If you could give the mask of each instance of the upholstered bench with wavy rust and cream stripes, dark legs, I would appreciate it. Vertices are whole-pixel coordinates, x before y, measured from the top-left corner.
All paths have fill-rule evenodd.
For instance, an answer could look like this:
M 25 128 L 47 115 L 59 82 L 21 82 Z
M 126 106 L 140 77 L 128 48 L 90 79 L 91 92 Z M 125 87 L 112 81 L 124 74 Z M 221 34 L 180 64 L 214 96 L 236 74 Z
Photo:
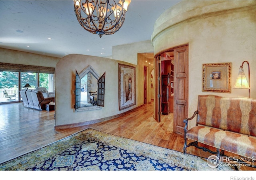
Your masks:
M 187 130 L 188 121 L 197 115 L 196 126 Z M 198 96 L 198 110 L 184 119 L 184 147 L 195 146 L 218 157 L 232 152 L 244 157 L 256 157 L 256 100 L 236 97 Z M 187 145 L 187 138 L 194 140 Z M 198 142 L 216 148 L 216 152 L 198 146 Z M 222 152 L 220 152 L 220 150 Z

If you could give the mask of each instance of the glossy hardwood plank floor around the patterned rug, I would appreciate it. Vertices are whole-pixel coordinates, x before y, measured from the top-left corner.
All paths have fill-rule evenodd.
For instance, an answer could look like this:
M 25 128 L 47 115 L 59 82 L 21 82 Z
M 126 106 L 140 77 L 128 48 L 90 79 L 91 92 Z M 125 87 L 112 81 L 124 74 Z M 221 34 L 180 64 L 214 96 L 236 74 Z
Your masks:
M 183 152 L 183 136 L 173 132 L 173 114 L 162 115 L 162 122 L 156 122 L 153 118 L 153 103 L 145 104 L 121 118 L 97 124 L 64 130 L 55 130 L 54 124 L 54 111 L 26 108 L 22 103 L 1 104 L 0 163 L 86 128 Z M 211 155 L 194 146 L 187 148 L 187 152 L 205 158 Z M 232 156 L 231 153 L 226 155 Z M 256 170 L 250 167 L 241 169 Z

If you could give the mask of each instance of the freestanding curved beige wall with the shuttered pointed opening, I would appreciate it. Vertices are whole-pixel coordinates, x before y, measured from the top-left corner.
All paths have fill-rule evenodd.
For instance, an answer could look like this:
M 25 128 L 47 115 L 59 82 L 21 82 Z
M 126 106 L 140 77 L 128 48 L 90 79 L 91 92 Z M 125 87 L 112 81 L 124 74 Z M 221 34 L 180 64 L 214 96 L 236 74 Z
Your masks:
M 136 67 L 136 105 L 119 111 L 118 63 Z M 100 110 L 74 112 L 75 70 L 78 74 L 88 65 L 102 76 L 106 72 L 105 104 Z M 70 54 L 60 59 L 55 68 L 56 126 L 88 122 L 126 112 L 143 104 L 144 64 L 133 65 L 119 60 Z

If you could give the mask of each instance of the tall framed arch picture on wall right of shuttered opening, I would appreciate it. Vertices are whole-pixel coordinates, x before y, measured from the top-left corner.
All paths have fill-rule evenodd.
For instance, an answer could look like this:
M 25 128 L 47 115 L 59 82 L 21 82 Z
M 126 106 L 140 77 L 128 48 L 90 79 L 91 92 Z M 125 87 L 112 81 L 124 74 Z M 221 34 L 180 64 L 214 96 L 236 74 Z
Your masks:
M 118 100 L 119 110 L 136 104 L 135 67 L 118 64 Z

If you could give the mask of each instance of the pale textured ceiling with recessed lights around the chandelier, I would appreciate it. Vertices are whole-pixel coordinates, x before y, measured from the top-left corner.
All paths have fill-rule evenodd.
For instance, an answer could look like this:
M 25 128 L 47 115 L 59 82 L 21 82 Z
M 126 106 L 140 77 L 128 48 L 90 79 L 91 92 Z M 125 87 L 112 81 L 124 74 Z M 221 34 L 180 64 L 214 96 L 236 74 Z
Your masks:
M 112 46 L 150 40 L 156 19 L 178 2 L 132 0 L 120 30 L 100 38 L 80 26 L 73 0 L 0 0 L 0 47 L 60 58 L 66 54 L 110 57 Z

